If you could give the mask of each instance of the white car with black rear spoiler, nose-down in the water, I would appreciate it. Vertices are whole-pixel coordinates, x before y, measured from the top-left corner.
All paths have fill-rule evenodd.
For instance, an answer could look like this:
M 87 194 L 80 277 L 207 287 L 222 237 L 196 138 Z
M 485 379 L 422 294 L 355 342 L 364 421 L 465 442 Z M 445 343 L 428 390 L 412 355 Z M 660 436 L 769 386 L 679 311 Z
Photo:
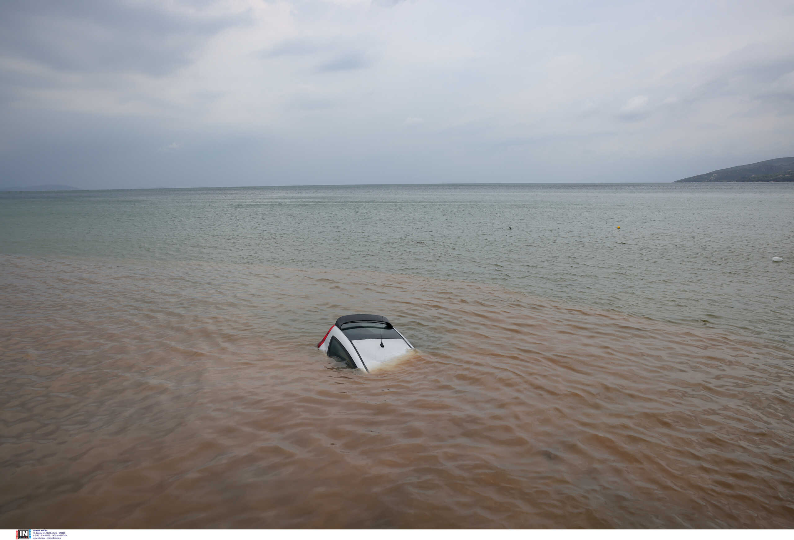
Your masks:
M 317 348 L 350 368 L 369 372 L 414 349 L 383 315 L 355 314 L 337 318 Z

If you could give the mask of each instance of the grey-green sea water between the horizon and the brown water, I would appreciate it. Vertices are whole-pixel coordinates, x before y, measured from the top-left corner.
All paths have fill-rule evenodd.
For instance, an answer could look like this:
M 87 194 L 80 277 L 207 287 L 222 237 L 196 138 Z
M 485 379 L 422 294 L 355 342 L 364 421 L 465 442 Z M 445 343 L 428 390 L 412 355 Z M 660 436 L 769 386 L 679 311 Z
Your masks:
M 792 183 L 10 192 L 0 253 L 375 270 L 794 336 Z

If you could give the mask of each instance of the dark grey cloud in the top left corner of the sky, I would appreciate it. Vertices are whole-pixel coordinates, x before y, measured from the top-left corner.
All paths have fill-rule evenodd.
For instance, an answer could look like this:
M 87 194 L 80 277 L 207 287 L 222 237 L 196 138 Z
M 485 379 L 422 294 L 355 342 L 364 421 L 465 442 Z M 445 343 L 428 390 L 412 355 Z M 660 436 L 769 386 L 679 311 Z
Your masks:
M 4 0 L 0 52 L 61 71 L 164 75 L 190 62 L 191 52 L 208 37 L 246 21 L 245 14 L 175 13 L 118 0 Z

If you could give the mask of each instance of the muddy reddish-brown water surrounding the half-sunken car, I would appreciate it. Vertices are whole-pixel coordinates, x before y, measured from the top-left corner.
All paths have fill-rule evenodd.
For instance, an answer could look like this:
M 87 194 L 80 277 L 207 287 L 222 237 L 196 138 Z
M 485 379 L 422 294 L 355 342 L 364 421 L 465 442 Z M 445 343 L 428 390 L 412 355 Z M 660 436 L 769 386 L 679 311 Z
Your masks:
M 498 285 L 0 255 L 3 527 L 792 527 L 794 357 Z M 314 348 L 387 316 L 363 373 Z

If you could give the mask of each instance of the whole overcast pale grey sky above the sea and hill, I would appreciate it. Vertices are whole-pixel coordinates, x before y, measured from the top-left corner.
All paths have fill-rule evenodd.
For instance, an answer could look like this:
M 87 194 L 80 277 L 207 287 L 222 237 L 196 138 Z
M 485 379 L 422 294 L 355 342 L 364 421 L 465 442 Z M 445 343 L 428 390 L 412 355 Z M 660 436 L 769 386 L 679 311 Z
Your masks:
M 3 0 L 0 186 L 669 182 L 794 155 L 794 3 Z

